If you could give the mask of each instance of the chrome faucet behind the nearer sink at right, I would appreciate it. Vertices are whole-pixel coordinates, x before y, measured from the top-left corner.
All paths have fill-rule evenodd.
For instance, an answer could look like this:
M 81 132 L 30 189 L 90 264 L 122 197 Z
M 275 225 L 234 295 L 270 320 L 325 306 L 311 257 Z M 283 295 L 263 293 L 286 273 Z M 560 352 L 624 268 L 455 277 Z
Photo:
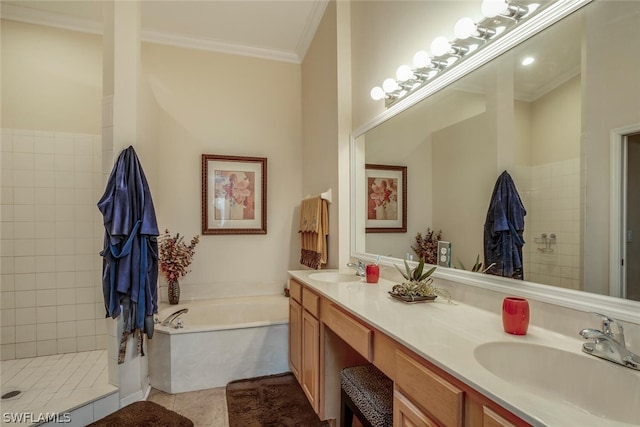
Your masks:
M 582 338 L 591 340 L 582 344 L 582 351 L 618 365 L 640 370 L 640 356 L 627 349 L 624 329 L 620 322 L 604 314 L 592 314 L 602 319 L 602 330 L 587 328 L 580 331 Z

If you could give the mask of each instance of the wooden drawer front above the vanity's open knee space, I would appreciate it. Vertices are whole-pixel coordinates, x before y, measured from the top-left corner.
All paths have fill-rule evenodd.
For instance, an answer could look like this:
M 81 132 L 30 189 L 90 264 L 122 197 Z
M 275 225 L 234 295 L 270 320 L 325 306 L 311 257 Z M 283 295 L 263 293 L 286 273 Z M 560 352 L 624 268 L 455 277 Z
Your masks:
M 322 305 L 322 321 L 365 359 L 373 361 L 371 329 L 331 303 Z

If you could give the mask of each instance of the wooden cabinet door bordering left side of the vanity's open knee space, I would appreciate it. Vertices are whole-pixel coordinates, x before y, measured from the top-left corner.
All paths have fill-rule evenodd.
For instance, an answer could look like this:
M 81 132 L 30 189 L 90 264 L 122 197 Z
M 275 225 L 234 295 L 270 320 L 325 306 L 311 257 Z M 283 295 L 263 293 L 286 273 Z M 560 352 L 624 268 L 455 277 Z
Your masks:
M 307 310 L 302 310 L 302 390 L 311 407 L 318 412 L 320 393 L 320 322 Z

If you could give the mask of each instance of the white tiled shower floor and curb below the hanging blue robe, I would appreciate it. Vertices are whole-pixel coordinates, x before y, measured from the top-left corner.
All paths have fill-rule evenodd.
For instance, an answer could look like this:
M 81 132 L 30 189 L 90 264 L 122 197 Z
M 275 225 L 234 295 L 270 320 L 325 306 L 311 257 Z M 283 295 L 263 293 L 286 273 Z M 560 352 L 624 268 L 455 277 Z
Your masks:
M 3 418 L 69 413 L 70 422 L 65 425 L 84 426 L 119 407 L 117 388 L 108 381 L 106 350 L 6 360 L 0 365 L 2 394 L 21 391 L 0 402 Z

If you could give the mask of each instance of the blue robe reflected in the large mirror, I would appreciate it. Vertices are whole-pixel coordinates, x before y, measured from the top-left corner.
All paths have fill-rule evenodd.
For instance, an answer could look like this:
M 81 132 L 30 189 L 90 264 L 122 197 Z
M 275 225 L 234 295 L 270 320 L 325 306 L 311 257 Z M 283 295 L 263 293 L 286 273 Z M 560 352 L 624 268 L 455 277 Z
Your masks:
M 527 211 L 516 185 L 507 171 L 502 172 L 493 188 L 484 223 L 484 265 L 488 274 L 524 279 L 522 246 L 524 217 Z

